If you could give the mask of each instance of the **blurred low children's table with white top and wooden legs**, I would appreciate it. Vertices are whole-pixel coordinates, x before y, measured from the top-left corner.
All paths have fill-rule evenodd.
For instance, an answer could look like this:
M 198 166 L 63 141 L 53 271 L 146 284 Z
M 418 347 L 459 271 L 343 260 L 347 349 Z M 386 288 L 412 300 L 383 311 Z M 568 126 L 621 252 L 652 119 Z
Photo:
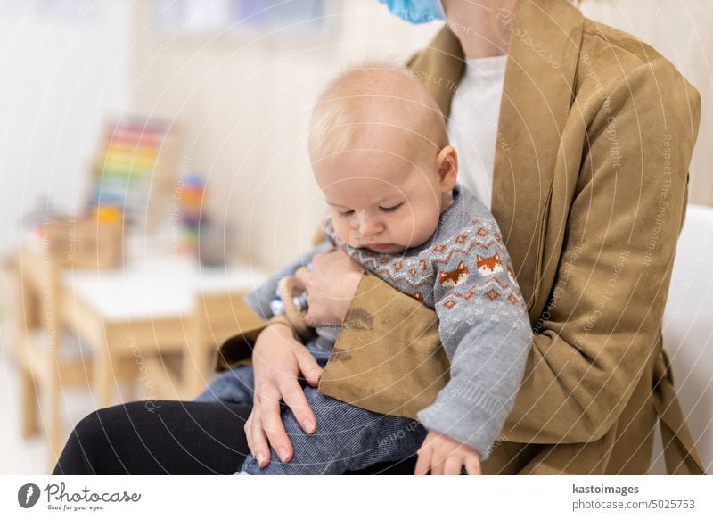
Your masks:
M 37 238 L 23 242 L 26 264 L 41 266 L 43 253 Z M 61 325 L 69 325 L 96 353 L 93 378 L 99 406 L 111 404 L 112 366 L 119 359 L 133 356 L 143 367 L 158 353 L 184 351 L 195 339 L 193 319 L 201 309 L 206 313 L 199 308 L 206 298 L 225 298 L 225 304 L 213 304 L 209 312 L 229 316 L 235 332 L 255 325 L 258 317 L 242 295 L 266 279 L 266 272 L 248 265 L 206 268 L 178 254 L 131 251 L 127 258 L 114 270 L 61 268 L 59 273 Z M 225 316 L 216 318 L 222 318 L 225 328 Z M 218 335 L 212 334 L 214 341 L 225 338 Z

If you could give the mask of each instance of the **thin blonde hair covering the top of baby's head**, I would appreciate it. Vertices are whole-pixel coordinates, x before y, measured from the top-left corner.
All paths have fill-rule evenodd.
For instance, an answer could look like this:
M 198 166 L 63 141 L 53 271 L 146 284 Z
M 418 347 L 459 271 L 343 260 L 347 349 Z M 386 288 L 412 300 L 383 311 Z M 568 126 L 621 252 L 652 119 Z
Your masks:
M 309 130 L 312 161 L 359 147 L 370 133 L 393 128 L 422 151 L 448 144 L 446 121 L 421 82 L 403 67 L 367 62 L 341 72 L 316 102 Z

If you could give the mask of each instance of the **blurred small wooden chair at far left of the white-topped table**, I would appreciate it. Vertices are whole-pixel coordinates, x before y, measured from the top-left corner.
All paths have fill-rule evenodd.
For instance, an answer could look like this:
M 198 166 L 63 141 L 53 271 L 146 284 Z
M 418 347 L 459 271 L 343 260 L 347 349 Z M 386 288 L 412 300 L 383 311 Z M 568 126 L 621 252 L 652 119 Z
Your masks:
M 20 433 L 29 438 L 44 431 L 50 447 L 49 464 L 53 467 L 65 440 L 63 391 L 89 386 L 94 356 L 78 336 L 60 325 L 64 294 L 59 267 L 50 255 L 20 247 L 15 268 L 19 293 L 14 357 L 21 381 Z M 135 380 L 135 363 L 118 365 L 116 373 Z M 40 400 L 45 406 L 39 406 Z

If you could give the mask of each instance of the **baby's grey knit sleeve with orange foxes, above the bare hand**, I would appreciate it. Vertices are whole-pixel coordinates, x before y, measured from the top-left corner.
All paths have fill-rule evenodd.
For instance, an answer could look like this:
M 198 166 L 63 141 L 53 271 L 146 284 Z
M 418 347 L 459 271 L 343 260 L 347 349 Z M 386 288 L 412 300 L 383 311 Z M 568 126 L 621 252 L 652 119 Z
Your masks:
M 532 332 L 495 220 L 444 245 L 433 260 L 434 301 L 451 379 L 418 418 L 485 459 L 520 387 Z

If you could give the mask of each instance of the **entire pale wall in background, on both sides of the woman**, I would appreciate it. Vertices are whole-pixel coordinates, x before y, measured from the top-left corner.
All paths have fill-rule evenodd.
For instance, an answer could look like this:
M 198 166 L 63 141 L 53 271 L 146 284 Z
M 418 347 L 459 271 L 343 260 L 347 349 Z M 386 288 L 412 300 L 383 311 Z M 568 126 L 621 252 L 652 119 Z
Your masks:
M 0 254 L 12 251 L 20 215 L 39 194 L 77 208 L 102 121 L 138 111 L 184 128 L 184 166 L 209 176 L 210 212 L 237 227 L 242 256 L 282 263 L 307 246 L 323 208 L 304 145 L 316 92 L 361 57 L 404 59 L 438 24 L 408 25 L 376 0 L 329 0 L 326 34 L 193 34 L 160 30 L 149 4 L 0 4 Z M 691 193 L 713 203 L 713 2 L 584 0 L 582 8 L 652 43 L 699 88 Z

